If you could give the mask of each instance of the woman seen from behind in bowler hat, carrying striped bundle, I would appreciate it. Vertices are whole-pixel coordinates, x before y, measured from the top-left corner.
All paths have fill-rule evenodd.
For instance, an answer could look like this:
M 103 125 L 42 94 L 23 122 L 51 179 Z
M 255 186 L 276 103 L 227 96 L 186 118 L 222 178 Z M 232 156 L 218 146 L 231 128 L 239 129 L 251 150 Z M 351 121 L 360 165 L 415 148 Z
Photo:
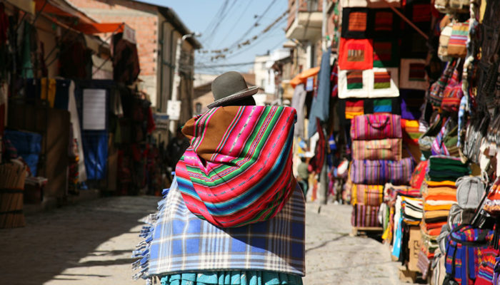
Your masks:
M 296 112 L 256 106 L 243 76 L 212 83 L 191 144 L 145 227 L 136 278 L 161 284 L 302 284 L 304 195 L 292 172 Z

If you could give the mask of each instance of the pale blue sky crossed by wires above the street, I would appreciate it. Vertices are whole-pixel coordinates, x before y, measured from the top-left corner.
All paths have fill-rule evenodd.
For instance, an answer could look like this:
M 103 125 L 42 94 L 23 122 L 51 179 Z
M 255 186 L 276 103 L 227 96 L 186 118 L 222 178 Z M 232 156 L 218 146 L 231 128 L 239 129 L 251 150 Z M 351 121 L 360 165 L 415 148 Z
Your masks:
M 279 18 L 288 7 L 287 0 L 140 0 L 173 9 L 181 21 L 196 33 L 202 50 L 229 48 L 226 58 L 212 59 L 218 53 L 195 52 L 196 73 L 219 74 L 225 71 L 247 72 L 253 65 L 221 66 L 249 63 L 256 55 L 281 48 L 286 41 L 286 16 L 269 31 L 263 30 Z M 254 26 L 257 23 L 257 26 Z M 254 36 L 249 44 L 238 48 Z M 232 53 L 230 53 L 232 51 Z M 203 66 L 203 67 L 202 67 Z

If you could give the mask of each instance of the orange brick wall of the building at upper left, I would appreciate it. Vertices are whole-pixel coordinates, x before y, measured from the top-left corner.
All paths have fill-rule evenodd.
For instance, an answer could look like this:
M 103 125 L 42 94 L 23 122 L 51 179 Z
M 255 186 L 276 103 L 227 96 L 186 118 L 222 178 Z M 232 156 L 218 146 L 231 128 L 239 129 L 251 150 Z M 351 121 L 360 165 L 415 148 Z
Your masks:
M 158 11 L 155 6 L 124 0 L 69 0 L 99 22 L 125 22 L 136 31 L 140 76 L 156 76 Z

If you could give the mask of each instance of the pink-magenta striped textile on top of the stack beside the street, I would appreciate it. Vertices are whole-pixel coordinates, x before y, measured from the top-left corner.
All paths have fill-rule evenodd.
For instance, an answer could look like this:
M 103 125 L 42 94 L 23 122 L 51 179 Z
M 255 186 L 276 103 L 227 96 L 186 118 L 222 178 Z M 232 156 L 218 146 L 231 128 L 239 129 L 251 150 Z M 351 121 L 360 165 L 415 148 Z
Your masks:
M 369 114 L 357 116 L 351 121 L 353 140 L 380 140 L 402 138 L 401 116 L 391 114 Z

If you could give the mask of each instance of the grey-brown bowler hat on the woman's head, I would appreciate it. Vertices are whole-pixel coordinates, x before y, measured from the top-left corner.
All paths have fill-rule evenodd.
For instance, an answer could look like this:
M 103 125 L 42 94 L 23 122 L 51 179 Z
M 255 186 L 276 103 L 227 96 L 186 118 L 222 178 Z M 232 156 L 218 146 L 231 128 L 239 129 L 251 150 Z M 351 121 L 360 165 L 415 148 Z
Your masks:
M 212 82 L 212 93 L 214 93 L 214 103 L 208 108 L 218 107 L 224 103 L 237 101 L 254 95 L 259 87 L 246 85 L 245 79 L 236 71 L 229 71 L 217 76 Z

